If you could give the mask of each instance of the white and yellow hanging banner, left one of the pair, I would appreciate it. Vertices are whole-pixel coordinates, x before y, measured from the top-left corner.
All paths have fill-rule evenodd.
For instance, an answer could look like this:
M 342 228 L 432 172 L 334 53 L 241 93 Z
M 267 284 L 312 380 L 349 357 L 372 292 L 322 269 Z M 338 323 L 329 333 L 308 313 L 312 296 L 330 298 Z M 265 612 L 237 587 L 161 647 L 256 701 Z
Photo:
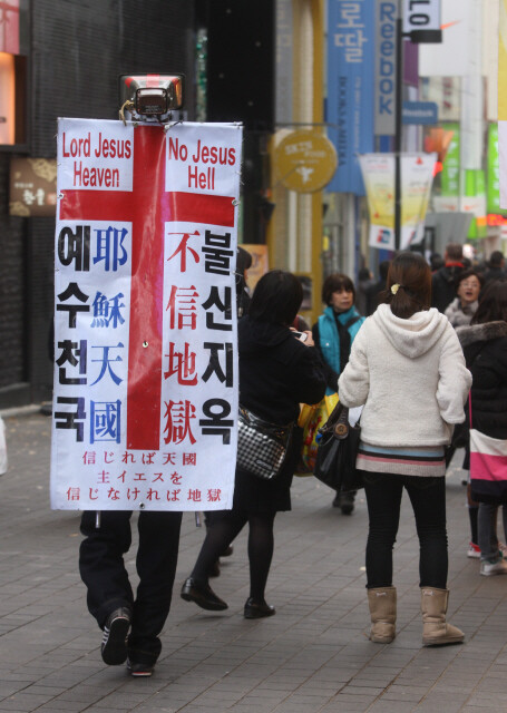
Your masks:
M 394 156 L 359 157 L 370 212 L 370 247 L 394 250 Z

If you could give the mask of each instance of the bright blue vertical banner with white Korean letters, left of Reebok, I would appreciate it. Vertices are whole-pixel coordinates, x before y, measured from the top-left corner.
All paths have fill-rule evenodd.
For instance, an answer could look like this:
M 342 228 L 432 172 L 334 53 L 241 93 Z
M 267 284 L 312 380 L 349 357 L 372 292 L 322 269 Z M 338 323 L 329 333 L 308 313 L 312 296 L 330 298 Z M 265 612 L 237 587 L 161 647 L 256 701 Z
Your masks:
M 326 121 L 338 168 L 325 189 L 363 196 L 358 154 L 374 150 L 374 3 L 329 0 L 328 28 Z

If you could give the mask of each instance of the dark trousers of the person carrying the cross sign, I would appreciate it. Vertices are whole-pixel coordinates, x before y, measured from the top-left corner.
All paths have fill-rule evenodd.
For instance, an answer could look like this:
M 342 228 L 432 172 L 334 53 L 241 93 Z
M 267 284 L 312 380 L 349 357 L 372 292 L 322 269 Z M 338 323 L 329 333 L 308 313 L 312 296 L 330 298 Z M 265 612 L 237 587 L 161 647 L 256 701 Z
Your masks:
M 103 511 L 99 528 L 95 527 L 95 512 L 85 511 L 81 518 L 85 539 L 79 549 L 79 572 L 88 589 L 88 609 L 104 628 L 114 609 L 128 607 L 133 614 L 129 657 L 153 664 L 162 649 L 158 634 L 170 608 L 182 514 L 139 514 L 136 557 L 139 585 L 135 599 L 124 563 L 131 544 L 131 512 Z

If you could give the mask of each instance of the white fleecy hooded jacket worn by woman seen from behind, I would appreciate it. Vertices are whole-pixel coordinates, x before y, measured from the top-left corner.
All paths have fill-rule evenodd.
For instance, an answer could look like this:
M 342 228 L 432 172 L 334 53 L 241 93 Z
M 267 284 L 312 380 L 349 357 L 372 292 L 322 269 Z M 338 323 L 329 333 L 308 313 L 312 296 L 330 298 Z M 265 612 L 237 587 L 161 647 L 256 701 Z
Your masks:
M 338 384 L 344 406 L 364 404 L 365 443 L 440 446 L 465 420 L 471 375 L 455 330 L 438 310 L 402 320 L 381 304 L 359 330 Z

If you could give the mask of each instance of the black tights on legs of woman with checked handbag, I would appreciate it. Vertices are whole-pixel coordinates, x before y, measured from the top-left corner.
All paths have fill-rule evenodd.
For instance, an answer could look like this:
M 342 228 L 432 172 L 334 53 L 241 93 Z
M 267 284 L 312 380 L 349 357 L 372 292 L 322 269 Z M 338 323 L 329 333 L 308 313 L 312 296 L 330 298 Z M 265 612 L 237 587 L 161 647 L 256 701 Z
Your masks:
M 206 538 L 192 572 L 196 584 L 206 585 L 213 565 L 248 522 L 250 596 L 264 600 L 267 575 L 273 557 L 275 512 L 221 510 L 209 518 Z

